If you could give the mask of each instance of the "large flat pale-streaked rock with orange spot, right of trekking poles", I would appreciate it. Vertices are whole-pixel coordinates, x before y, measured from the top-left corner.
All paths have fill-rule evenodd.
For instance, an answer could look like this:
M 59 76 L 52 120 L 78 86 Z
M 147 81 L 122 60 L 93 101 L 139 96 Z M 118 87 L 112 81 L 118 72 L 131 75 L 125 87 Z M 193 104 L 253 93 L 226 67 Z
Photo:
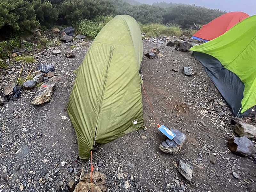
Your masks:
M 43 84 L 41 88 L 31 97 L 33 105 L 40 105 L 51 99 L 55 83 Z

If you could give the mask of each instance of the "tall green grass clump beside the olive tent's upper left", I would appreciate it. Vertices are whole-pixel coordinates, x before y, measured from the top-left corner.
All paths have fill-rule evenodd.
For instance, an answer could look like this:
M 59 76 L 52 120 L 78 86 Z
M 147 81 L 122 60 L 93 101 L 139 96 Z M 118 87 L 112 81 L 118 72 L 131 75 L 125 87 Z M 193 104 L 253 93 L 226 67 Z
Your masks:
M 94 39 L 103 26 L 99 26 L 96 22 L 92 20 L 81 20 L 76 25 L 76 30 L 78 33 L 86 36 L 88 39 Z

